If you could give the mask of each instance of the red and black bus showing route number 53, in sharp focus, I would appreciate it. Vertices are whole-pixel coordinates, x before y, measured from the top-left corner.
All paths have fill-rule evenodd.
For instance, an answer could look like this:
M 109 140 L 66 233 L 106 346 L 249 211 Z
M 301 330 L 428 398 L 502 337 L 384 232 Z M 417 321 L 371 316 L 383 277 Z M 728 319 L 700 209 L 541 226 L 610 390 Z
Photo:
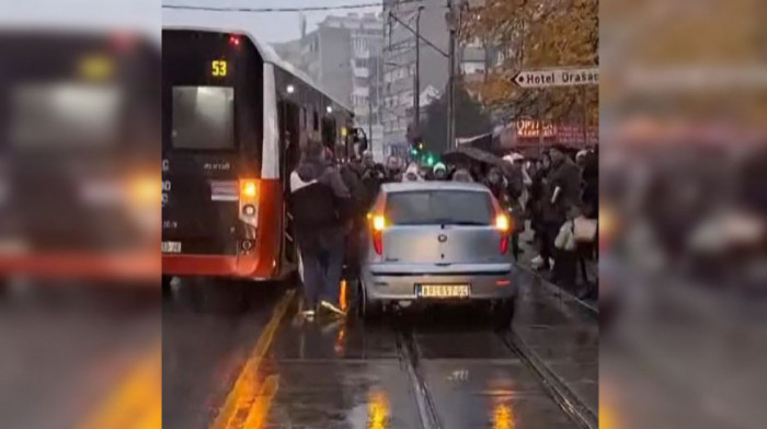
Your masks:
M 297 267 L 286 196 L 308 139 L 353 114 L 247 32 L 162 32 L 162 271 L 275 279 Z

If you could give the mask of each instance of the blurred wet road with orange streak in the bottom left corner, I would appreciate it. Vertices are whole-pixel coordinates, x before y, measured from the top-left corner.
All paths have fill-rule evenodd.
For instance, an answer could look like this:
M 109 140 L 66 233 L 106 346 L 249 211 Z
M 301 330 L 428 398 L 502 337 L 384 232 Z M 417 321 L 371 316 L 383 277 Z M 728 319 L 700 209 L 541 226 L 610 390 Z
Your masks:
M 0 428 L 159 427 L 160 304 L 144 287 L 20 281 L 5 290 Z

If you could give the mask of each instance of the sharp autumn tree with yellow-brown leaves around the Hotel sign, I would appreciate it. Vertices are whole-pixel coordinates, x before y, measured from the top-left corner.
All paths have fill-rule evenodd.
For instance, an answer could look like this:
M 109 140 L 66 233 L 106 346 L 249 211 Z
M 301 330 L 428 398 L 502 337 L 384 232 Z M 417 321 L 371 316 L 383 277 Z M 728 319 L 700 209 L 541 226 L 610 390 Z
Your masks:
M 520 70 L 598 66 L 597 0 L 485 0 L 461 5 L 460 38 L 495 53 L 484 79 L 467 83 L 485 108 L 511 120 L 598 120 L 598 86 L 519 89 Z

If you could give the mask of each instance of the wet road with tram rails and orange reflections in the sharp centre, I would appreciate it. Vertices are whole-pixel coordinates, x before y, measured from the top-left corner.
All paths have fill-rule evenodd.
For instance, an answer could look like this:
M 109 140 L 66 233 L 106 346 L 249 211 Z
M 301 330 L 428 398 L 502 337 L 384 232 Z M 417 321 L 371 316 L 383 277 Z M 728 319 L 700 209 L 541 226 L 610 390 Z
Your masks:
M 182 280 L 163 302 L 163 427 L 579 427 L 522 353 L 593 417 L 596 317 L 533 276 L 519 281 L 514 331 L 495 332 L 460 308 L 309 323 L 294 285 Z

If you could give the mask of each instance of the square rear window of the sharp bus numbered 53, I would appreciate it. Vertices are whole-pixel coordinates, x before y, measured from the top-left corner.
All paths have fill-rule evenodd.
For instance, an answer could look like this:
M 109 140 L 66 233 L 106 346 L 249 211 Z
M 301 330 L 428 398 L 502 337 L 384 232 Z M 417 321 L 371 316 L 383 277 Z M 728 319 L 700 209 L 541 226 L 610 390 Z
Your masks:
M 173 86 L 174 149 L 234 148 L 234 89 Z

